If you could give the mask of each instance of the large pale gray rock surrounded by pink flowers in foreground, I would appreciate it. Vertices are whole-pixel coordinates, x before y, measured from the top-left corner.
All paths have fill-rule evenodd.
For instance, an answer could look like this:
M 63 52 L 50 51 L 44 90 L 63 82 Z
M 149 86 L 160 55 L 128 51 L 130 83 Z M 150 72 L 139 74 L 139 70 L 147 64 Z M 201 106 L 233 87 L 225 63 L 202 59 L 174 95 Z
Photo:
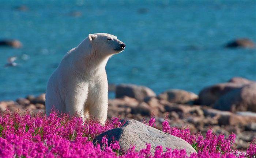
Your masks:
M 162 146 L 172 149 L 185 149 L 187 154 L 195 153 L 195 149 L 186 141 L 173 135 L 164 133 L 158 129 L 147 126 L 136 120 L 127 121 L 121 128 L 112 129 L 98 135 L 94 141 L 101 143 L 102 137 L 108 138 L 108 141 L 119 141 L 120 148 L 127 151 L 131 145 L 135 146 L 135 150 L 139 151 L 146 148 L 146 143 L 151 144 L 151 153 L 154 153 L 155 147 Z

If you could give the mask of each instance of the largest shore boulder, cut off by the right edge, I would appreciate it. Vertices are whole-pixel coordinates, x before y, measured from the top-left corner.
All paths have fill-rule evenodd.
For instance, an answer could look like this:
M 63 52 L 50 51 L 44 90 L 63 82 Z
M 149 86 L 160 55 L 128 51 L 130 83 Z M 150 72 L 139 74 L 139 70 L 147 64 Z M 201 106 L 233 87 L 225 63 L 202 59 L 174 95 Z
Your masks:
M 214 108 L 228 111 L 256 112 L 256 83 L 234 89 L 221 96 L 214 104 Z

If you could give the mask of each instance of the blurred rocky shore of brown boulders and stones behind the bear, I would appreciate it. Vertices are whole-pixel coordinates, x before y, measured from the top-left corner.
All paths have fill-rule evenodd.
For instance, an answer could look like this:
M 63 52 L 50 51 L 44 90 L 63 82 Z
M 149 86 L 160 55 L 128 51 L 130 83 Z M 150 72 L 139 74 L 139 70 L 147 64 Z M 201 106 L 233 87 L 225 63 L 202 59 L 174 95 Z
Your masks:
M 237 149 L 247 149 L 256 138 L 255 81 L 236 77 L 206 87 L 199 95 L 176 89 L 156 95 L 148 87 L 131 84 L 110 87 L 116 98 L 109 100 L 109 118 L 119 116 L 143 122 L 153 115 L 158 129 L 169 119 L 171 126 L 189 127 L 194 133 L 205 134 L 209 127 L 225 136 L 233 132 L 237 135 Z M 11 111 L 45 112 L 45 94 L 0 102 L 1 111 L 7 107 Z

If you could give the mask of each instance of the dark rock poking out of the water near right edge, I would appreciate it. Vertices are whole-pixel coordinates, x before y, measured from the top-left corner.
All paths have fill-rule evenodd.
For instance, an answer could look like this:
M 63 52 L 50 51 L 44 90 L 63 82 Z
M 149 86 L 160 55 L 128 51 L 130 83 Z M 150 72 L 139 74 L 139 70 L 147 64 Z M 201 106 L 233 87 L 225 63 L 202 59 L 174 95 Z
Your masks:
M 236 48 L 236 47 L 246 47 L 246 48 L 254 48 L 255 44 L 246 38 L 236 39 L 226 44 L 226 48 Z

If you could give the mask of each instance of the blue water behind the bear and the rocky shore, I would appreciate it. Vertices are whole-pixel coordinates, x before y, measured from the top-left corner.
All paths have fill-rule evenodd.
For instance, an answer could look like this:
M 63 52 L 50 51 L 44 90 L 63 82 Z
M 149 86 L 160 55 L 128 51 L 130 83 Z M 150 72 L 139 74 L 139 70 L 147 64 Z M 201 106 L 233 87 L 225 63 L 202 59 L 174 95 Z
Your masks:
M 89 33 L 107 32 L 127 45 L 107 66 L 109 83 L 133 83 L 157 94 L 198 93 L 233 76 L 256 80 L 256 50 L 226 49 L 239 37 L 256 42 L 256 1 L 1 1 L 0 100 L 45 92 L 64 54 Z M 26 5 L 27 11 L 15 7 Z M 81 12 L 82 16 L 71 16 Z M 17 56 L 17 67 L 4 67 Z

